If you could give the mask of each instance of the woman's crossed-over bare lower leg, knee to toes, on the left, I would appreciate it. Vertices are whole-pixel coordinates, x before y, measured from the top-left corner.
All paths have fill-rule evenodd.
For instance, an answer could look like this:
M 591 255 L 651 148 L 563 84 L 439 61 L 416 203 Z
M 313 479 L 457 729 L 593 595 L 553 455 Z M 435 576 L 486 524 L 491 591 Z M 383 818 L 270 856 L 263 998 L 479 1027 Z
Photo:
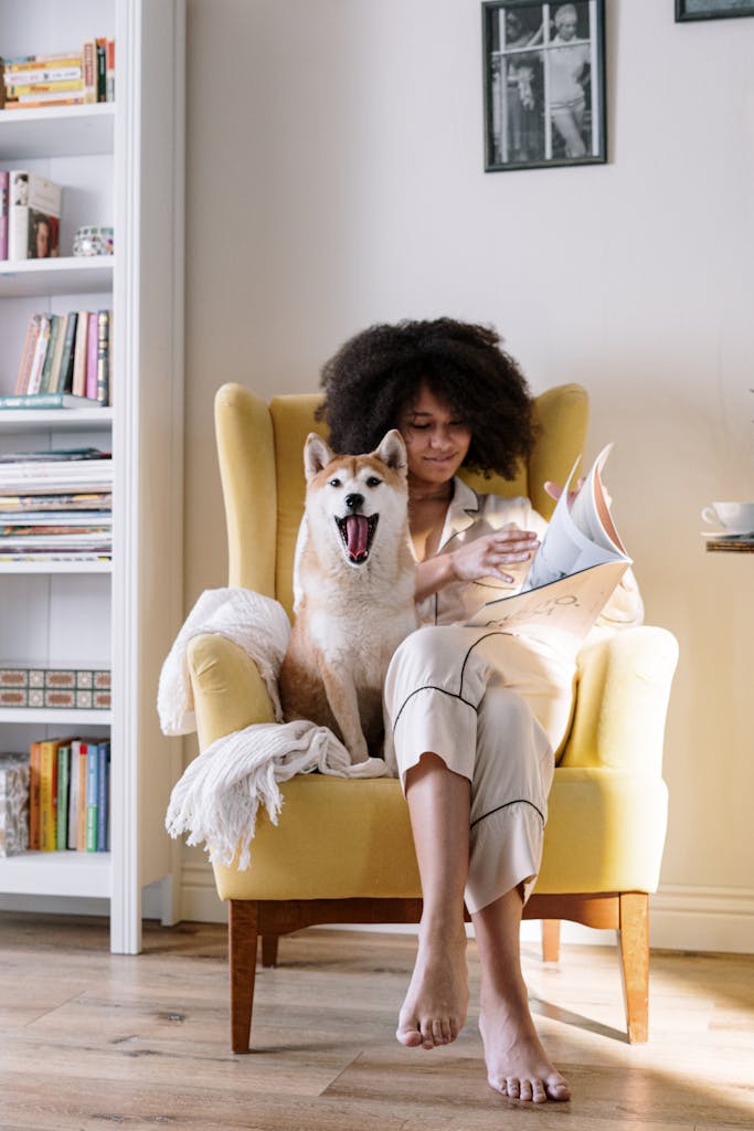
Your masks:
M 463 886 L 470 784 L 426 752 L 406 775 L 406 800 L 424 908 L 416 965 L 396 1036 L 404 1045 L 434 1048 L 456 1039 L 468 1009 Z

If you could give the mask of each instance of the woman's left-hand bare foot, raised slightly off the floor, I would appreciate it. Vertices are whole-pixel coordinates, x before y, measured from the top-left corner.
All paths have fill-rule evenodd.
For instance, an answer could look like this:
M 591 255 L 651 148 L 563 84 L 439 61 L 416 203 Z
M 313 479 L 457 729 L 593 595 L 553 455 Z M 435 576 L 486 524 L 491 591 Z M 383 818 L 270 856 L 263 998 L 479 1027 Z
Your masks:
M 396 1037 L 410 1048 L 449 1045 L 463 1028 L 469 1004 L 466 931 L 419 933 L 414 974 Z

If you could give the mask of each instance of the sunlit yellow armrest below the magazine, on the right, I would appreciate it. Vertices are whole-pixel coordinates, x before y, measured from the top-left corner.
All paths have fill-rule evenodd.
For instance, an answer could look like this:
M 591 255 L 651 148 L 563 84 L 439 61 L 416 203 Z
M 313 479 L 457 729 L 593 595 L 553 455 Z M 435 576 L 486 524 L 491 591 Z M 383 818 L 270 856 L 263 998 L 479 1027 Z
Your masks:
M 561 766 L 659 777 L 678 645 L 666 629 L 623 629 L 579 654 L 573 724 Z

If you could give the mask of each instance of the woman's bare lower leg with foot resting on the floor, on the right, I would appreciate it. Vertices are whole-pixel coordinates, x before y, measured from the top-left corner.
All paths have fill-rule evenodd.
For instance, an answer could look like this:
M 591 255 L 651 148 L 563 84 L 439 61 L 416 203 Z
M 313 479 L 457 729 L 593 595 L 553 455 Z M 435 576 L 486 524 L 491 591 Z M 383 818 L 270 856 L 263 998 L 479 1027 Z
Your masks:
M 535 1029 L 521 974 L 518 888 L 471 915 L 482 967 L 479 1029 L 491 1087 L 513 1099 L 570 1099 Z

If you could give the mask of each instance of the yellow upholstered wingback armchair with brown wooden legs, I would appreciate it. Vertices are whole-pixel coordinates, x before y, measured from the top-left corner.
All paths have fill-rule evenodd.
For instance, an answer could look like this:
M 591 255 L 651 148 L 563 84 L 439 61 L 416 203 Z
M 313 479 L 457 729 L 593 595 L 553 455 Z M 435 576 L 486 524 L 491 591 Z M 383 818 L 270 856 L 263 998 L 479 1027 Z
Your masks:
M 291 613 L 293 553 L 304 504 L 302 451 L 317 396 L 269 406 L 239 385 L 218 390 L 215 422 L 228 536 L 228 584 L 276 597 Z M 527 494 L 546 517 L 546 480 L 564 482 L 582 450 L 587 394 L 537 398 L 540 433 L 515 482 L 467 476 L 499 494 Z M 555 959 L 560 921 L 619 933 L 630 1041 L 648 1036 L 648 896 L 666 829 L 662 737 L 677 646 L 635 628 L 584 646 L 575 708 L 549 801 L 541 872 L 525 915 L 544 923 Z M 219 637 L 196 637 L 189 671 L 199 744 L 274 720 L 253 662 Z M 302 775 L 281 786 L 279 824 L 260 813 L 251 866 L 214 865 L 229 901 L 231 1043 L 246 1052 L 258 939 L 272 965 L 281 934 L 322 923 L 417 923 L 421 884 L 408 809 L 395 779 Z

